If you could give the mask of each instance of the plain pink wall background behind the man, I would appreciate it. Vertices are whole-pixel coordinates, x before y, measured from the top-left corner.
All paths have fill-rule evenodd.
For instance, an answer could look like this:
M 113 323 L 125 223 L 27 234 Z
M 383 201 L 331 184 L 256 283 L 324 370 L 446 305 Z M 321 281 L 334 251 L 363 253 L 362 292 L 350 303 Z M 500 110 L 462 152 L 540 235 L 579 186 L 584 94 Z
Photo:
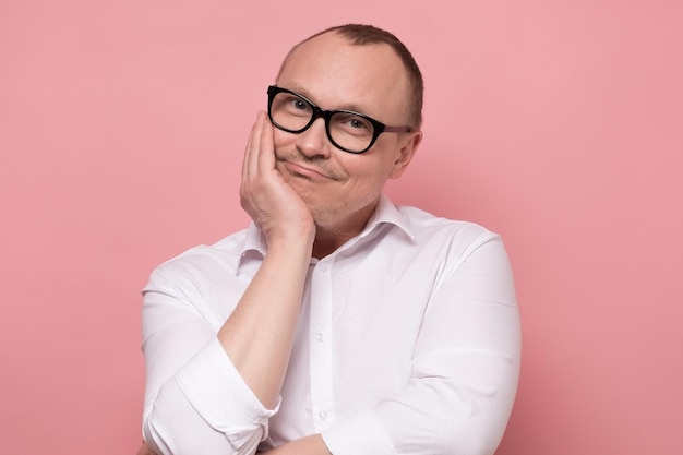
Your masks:
M 266 85 L 345 22 L 426 76 L 390 194 L 508 248 L 524 357 L 499 455 L 680 453 L 681 4 L 0 0 L 0 453 L 135 453 L 140 289 L 245 225 Z

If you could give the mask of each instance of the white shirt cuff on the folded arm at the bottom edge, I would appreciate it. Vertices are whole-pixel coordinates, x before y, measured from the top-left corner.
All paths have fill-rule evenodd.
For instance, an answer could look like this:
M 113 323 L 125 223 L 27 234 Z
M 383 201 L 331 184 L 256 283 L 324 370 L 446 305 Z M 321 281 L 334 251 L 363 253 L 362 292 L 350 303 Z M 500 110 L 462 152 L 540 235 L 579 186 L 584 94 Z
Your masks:
M 321 433 L 333 455 L 395 455 L 384 427 L 372 412 L 364 412 L 329 427 Z

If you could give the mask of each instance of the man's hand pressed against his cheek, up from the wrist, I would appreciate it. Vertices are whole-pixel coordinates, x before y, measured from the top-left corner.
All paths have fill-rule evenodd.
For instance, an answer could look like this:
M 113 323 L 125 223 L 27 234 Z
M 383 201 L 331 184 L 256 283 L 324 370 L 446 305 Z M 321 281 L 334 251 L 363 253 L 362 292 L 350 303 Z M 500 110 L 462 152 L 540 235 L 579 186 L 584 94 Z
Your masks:
M 276 241 L 308 238 L 312 242 L 315 225 L 310 209 L 275 168 L 273 125 L 259 112 L 242 164 L 240 201 L 242 207 L 266 238 Z

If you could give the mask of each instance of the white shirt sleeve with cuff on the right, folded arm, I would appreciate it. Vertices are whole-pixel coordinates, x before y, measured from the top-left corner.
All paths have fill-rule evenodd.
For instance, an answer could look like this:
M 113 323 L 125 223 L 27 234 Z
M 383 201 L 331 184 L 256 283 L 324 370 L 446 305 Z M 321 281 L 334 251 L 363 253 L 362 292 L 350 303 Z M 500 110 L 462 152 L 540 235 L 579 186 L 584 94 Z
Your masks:
M 517 388 L 519 318 L 500 238 L 471 250 L 432 295 L 406 386 L 323 431 L 334 455 L 493 454 Z

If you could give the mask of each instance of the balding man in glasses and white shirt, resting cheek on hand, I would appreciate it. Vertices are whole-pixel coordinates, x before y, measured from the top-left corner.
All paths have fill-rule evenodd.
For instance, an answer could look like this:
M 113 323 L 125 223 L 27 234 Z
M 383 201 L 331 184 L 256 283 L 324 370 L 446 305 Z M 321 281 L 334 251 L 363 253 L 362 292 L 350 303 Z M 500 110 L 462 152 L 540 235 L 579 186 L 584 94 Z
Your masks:
M 253 224 L 143 291 L 140 454 L 493 453 L 519 367 L 502 242 L 382 193 L 420 144 L 421 106 L 384 31 L 289 52 L 244 155 Z

